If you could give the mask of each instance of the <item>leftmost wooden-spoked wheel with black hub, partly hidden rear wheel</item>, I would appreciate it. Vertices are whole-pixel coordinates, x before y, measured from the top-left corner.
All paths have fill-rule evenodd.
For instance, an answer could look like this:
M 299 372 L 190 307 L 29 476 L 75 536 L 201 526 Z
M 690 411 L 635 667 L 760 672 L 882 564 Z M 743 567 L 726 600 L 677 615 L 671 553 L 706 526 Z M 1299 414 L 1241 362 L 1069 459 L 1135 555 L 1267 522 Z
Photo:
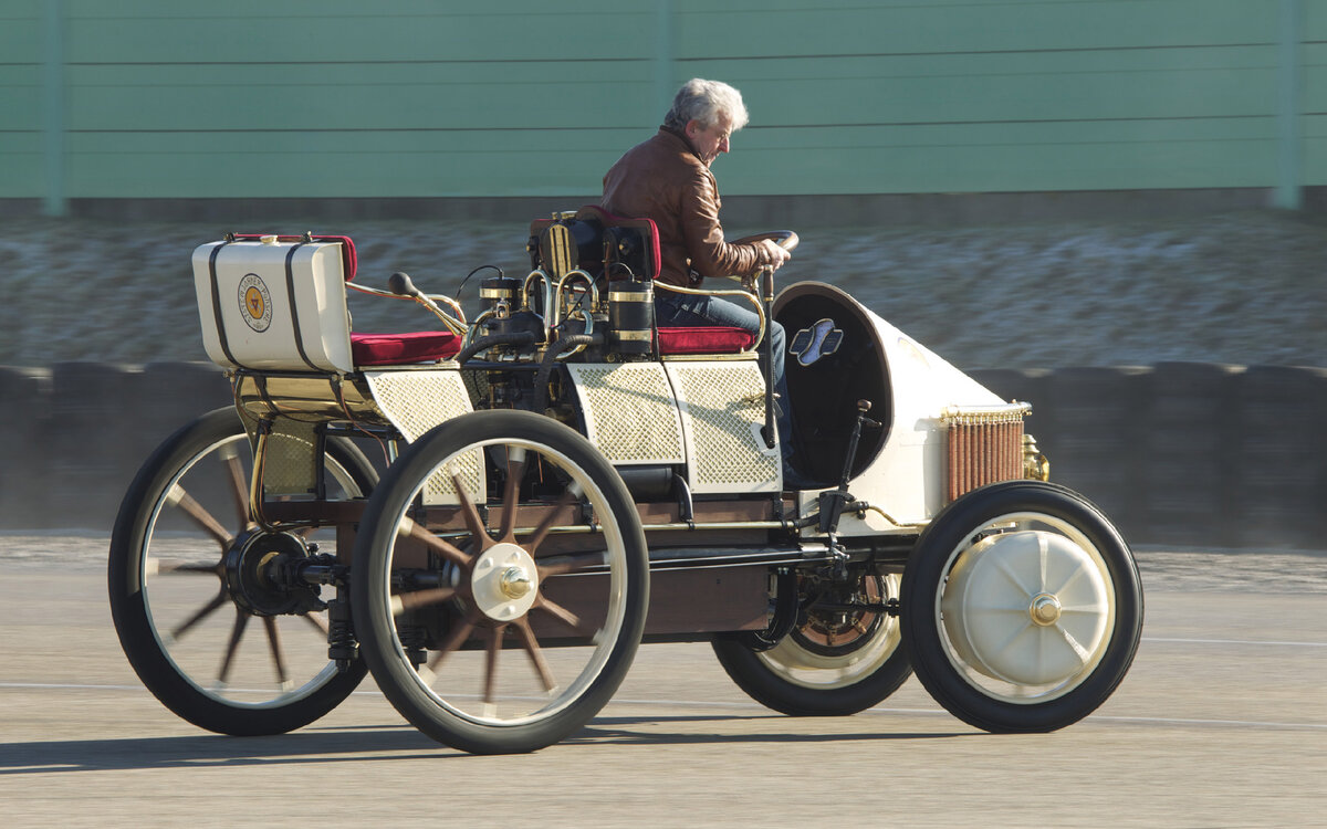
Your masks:
M 318 588 L 272 585 L 273 556 L 336 552 L 336 536 L 265 532 L 249 520 L 252 454 L 234 409 L 169 438 L 138 472 L 115 520 L 110 610 L 143 684 L 183 719 L 220 733 L 269 735 L 307 726 L 364 678 L 328 659 Z M 376 474 L 352 443 L 328 442 L 333 499 L 366 495 Z

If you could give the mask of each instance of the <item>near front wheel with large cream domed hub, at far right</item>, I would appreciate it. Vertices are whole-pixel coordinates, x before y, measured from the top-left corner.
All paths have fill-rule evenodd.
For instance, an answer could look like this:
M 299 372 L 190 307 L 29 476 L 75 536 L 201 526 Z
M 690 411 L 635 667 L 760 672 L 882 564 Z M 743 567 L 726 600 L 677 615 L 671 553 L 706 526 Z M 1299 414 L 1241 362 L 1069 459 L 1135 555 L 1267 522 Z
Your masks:
M 1083 496 L 1039 481 L 946 507 L 904 572 L 902 635 L 917 678 L 961 720 L 1044 732 L 1095 711 L 1143 633 L 1128 545 Z

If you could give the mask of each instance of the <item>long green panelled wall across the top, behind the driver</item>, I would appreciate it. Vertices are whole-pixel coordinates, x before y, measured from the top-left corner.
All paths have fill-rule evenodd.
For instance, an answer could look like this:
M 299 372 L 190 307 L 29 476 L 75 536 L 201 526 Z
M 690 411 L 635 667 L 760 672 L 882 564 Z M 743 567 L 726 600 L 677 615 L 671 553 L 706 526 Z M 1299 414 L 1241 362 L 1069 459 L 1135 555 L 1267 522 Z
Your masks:
M 592 196 L 689 77 L 727 195 L 1327 183 L 1327 0 L 0 0 L 0 199 Z

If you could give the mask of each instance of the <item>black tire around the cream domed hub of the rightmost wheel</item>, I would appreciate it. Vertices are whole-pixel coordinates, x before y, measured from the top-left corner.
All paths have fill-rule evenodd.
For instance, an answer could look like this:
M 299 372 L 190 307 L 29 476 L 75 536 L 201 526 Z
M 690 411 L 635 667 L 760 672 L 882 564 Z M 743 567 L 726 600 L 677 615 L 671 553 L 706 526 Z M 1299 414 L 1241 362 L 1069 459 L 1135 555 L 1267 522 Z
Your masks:
M 990 674 L 965 662 L 941 618 L 942 590 L 949 585 L 954 564 L 971 548 L 977 533 L 993 528 L 1005 516 L 1030 516 L 1039 527 L 1044 519 L 1048 523 L 1044 527 L 1080 533 L 1087 546 L 1075 544 L 1085 549 L 1095 568 L 1104 573 L 1099 577 L 1113 602 L 1111 622 L 1093 651 L 1093 661 L 1082 672 L 1066 675 L 1059 686 L 1047 687 L 1038 695 L 1019 696 L 987 687 L 977 674 Z M 1124 537 L 1082 495 L 1030 480 L 975 489 L 937 515 L 908 560 L 901 605 L 904 645 L 922 686 L 950 714 L 990 732 L 1047 732 L 1083 719 L 1124 679 L 1143 633 L 1143 586 Z

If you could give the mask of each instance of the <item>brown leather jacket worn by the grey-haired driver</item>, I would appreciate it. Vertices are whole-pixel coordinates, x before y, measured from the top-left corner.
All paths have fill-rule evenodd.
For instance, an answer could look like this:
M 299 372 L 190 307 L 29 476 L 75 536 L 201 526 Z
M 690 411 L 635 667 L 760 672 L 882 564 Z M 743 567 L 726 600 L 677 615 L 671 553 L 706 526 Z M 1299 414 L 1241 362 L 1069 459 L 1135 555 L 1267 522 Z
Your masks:
M 770 264 L 754 244 L 729 244 L 719 224 L 714 174 L 685 135 L 667 127 L 626 151 L 604 176 L 604 210 L 653 219 L 660 232 L 660 280 L 695 287 L 706 276 L 751 276 Z

